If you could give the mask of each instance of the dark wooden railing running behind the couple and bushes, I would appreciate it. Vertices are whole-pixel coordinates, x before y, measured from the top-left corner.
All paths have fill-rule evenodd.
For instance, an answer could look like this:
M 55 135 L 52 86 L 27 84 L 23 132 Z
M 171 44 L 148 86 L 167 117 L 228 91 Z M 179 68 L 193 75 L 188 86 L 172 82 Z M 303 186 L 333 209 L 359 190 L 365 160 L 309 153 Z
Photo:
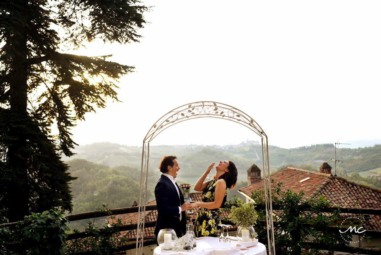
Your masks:
M 279 209 L 279 205 L 274 204 L 273 205 L 273 210 Z M 311 206 L 306 206 L 303 207 L 303 211 L 308 211 L 311 208 Z M 146 206 L 146 211 L 152 211 L 156 210 L 156 205 L 147 205 Z M 333 210 L 336 210 L 337 208 L 335 207 L 324 207 L 321 208 L 321 212 L 331 212 Z M 370 209 L 370 208 L 347 208 L 347 207 L 339 207 L 341 213 L 350 213 L 350 214 L 369 214 L 369 215 L 381 215 L 381 209 Z M 142 209 L 141 209 L 142 210 Z M 256 210 L 265 210 L 264 205 L 259 205 L 256 204 Z M 73 215 L 67 215 L 67 218 L 69 218 L 70 221 L 76 221 L 80 219 L 92 219 L 92 218 L 97 218 L 97 217 L 104 217 L 104 216 L 111 216 L 111 215 L 118 215 L 118 214 L 124 214 L 124 213 L 137 213 L 139 211 L 139 207 L 126 207 L 126 208 L 118 208 L 118 209 L 111 209 L 110 210 L 112 213 L 106 213 L 106 212 L 100 212 L 100 211 L 92 211 L 92 212 L 87 212 L 87 213 L 78 213 L 78 214 L 73 214 Z M 260 221 L 259 221 L 260 222 Z M 223 224 L 230 224 L 234 225 L 234 223 L 230 221 L 223 221 Z M 266 221 L 263 221 L 263 223 L 266 223 Z M 16 226 L 17 223 L 7 223 L 5 226 L 9 228 L 13 228 Z M 146 228 L 148 227 L 155 227 L 156 221 L 147 221 L 144 223 L 144 226 Z M 311 226 L 309 224 L 305 224 L 306 226 Z M 277 222 L 274 221 L 274 227 L 277 227 Z M 134 224 L 125 224 L 123 226 L 119 227 L 119 231 L 127 231 L 127 230 L 133 230 L 136 229 L 137 226 Z M 328 233 L 337 233 L 339 231 L 339 227 L 328 227 Z M 102 229 L 100 229 L 102 231 Z M 363 234 L 359 233 L 351 233 L 352 235 L 358 235 L 362 236 Z M 375 231 L 375 230 L 367 230 L 366 232 L 367 236 L 373 237 L 373 238 L 381 238 L 381 231 Z M 83 237 L 90 237 L 90 234 L 86 234 L 86 232 L 78 232 L 78 233 L 73 233 L 73 234 L 68 234 L 66 240 L 73 240 L 73 239 L 79 239 Z M 136 240 L 136 239 L 135 239 Z M 266 240 L 259 240 L 263 244 L 267 243 Z M 148 246 L 148 245 L 154 245 L 156 244 L 156 240 L 154 238 L 144 238 L 143 246 Z M 311 242 L 304 242 L 304 244 L 310 246 L 312 249 L 319 249 L 319 250 L 328 250 L 328 247 L 325 247 L 322 244 L 315 244 Z M 136 244 L 126 244 L 118 247 L 118 251 L 124 251 L 124 250 L 131 250 L 135 249 Z M 379 255 L 380 250 L 376 249 L 370 249 L 370 248 L 364 248 L 364 247 L 337 247 L 336 252 L 348 252 L 348 253 L 362 253 L 362 254 L 368 254 L 368 255 Z M 89 251 L 85 252 L 78 252 L 75 254 L 78 255 L 85 255 L 90 253 Z

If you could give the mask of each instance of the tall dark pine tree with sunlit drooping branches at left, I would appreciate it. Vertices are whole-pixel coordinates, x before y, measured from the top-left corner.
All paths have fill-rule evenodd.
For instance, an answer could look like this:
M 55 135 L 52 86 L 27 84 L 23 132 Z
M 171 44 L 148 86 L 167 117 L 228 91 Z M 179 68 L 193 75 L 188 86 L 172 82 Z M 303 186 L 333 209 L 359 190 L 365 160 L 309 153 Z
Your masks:
M 87 40 L 139 42 L 146 6 L 136 0 L 0 1 L 0 221 L 72 210 L 61 153 L 85 113 L 118 101 L 115 82 L 133 66 L 67 53 Z M 63 36 L 60 36 L 60 35 Z M 51 135 L 54 128 L 58 134 Z

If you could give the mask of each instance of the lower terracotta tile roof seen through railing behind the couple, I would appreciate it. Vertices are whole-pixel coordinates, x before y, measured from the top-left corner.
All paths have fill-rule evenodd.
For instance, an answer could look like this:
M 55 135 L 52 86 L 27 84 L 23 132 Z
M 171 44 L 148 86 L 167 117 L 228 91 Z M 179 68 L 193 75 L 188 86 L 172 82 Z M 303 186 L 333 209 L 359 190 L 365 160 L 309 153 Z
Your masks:
M 184 185 L 184 187 L 187 187 L 187 186 L 191 187 L 189 184 L 180 184 L 180 187 L 182 187 L 183 185 Z M 187 188 L 189 188 L 189 187 L 187 187 Z M 191 192 L 190 193 L 191 199 L 194 202 L 196 202 L 196 201 L 201 202 L 201 195 L 202 195 L 202 192 Z M 147 205 L 155 205 L 155 204 L 156 204 L 156 200 L 152 200 L 152 201 L 147 203 Z M 199 210 L 199 207 L 195 207 L 190 212 L 188 211 L 188 215 L 191 216 L 193 221 L 196 219 L 198 210 Z M 227 217 L 229 215 L 229 213 L 227 213 L 226 211 L 223 211 L 223 210 L 221 210 L 221 214 L 223 217 L 224 216 Z M 115 219 L 118 219 L 118 218 L 121 219 L 123 223 L 126 222 L 126 224 L 131 224 L 131 221 L 132 221 L 134 226 L 137 226 L 138 213 L 125 213 L 125 214 L 118 214 L 118 215 L 114 215 L 114 216 L 115 216 Z M 111 221 L 110 217 L 107 217 L 107 220 Z M 157 220 L 157 210 L 146 211 L 145 221 L 156 221 L 156 220 Z M 145 238 L 146 237 L 154 237 L 154 234 L 153 234 L 154 229 L 155 228 L 151 228 L 151 227 L 145 228 L 144 229 L 144 237 Z M 229 230 L 235 230 L 235 229 L 237 229 L 236 226 L 230 226 L 229 227 Z M 137 234 L 136 229 L 133 229 L 133 230 L 118 232 L 117 236 L 136 239 L 136 234 Z

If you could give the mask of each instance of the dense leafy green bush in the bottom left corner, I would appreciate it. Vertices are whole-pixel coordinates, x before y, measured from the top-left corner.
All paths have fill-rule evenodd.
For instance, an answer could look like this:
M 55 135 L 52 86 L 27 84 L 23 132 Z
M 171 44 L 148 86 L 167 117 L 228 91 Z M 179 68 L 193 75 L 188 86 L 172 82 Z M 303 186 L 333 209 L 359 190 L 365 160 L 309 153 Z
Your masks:
M 25 216 L 16 229 L 0 228 L 0 254 L 64 254 L 69 219 L 59 211 Z

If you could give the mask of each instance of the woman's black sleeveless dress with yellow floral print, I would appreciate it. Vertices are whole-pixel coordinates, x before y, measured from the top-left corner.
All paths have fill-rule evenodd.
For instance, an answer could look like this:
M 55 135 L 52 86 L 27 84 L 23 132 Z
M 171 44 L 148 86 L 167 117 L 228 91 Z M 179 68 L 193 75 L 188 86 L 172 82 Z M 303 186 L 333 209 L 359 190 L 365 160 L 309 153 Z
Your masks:
M 215 197 L 216 183 L 218 180 L 211 180 L 204 191 L 202 192 L 201 201 L 202 202 L 213 202 Z M 225 196 L 222 201 L 223 205 L 226 202 L 227 189 L 225 190 Z M 211 236 L 219 237 L 221 235 L 221 211 L 219 208 L 216 209 L 206 209 L 199 207 L 197 212 L 197 217 L 194 225 L 194 232 L 196 237 Z

